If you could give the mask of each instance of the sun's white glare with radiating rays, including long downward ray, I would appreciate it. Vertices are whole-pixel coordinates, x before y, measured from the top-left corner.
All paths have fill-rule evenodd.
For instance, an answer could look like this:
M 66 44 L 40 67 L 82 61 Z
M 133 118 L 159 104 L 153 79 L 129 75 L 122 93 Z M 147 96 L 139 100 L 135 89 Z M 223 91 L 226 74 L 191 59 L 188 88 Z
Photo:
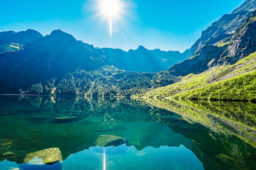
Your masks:
M 85 3 L 84 12 L 86 24 L 104 40 L 109 40 L 109 46 L 115 40 L 125 40 L 131 35 L 134 22 L 137 20 L 136 4 L 133 0 L 89 0 Z

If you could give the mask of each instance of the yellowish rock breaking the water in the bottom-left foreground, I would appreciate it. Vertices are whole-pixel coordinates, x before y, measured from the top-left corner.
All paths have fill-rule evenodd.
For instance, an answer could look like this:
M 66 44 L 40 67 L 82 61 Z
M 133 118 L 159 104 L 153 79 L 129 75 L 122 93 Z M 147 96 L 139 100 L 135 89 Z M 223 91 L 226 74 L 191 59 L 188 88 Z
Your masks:
M 31 152 L 26 155 L 23 160 L 23 163 L 31 161 L 34 157 L 43 159 L 45 164 L 52 165 L 58 161 L 62 161 L 61 151 L 59 148 L 49 148 L 45 150 L 39 150 L 36 152 Z

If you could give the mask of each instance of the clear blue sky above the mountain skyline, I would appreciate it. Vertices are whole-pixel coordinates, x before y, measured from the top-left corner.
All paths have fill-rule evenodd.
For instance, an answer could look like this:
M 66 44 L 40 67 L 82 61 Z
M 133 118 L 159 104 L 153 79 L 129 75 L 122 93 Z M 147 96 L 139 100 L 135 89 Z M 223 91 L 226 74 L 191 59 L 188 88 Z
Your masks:
M 125 51 L 189 49 L 202 31 L 245 0 L 116 0 L 110 14 L 103 0 L 1 0 L 0 32 L 61 29 L 95 47 Z M 101 9 L 100 9 L 101 8 Z M 105 11 L 104 11 L 105 9 Z

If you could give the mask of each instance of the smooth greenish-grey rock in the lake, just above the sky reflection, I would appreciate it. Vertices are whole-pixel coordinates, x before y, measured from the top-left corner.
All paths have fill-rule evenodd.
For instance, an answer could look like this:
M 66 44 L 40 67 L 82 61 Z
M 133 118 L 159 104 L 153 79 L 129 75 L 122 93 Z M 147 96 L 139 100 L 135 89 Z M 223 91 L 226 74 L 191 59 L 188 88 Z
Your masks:
M 119 146 L 122 144 L 127 144 L 127 139 L 119 137 L 119 136 L 113 136 L 113 135 L 100 135 L 96 142 L 96 146 Z

